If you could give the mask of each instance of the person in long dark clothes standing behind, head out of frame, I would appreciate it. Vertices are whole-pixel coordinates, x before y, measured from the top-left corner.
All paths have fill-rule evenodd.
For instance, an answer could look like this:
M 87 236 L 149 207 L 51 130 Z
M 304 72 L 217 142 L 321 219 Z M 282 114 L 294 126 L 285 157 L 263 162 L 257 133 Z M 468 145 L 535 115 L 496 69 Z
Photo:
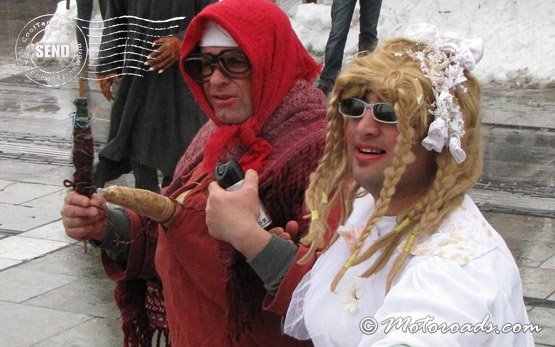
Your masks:
M 137 188 L 158 192 L 158 170 L 162 186 L 171 181 L 206 120 L 176 63 L 189 22 L 210 2 L 107 2 L 97 77 L 113 105 L 108 143 L 95 170 L 99 187 L 130 169 Z

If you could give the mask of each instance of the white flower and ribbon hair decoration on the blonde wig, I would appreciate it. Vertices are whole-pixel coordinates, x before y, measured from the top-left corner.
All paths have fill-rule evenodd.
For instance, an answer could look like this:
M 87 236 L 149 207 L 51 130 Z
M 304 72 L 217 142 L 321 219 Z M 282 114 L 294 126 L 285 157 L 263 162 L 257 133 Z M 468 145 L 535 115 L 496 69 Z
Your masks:
M 464 70 L 471 71 L 480 61 L 483 41 L 481 38 L 461 39 L 452 32 L 440 36 L 438 29 L 427 23 L 411 25 L 405 35 L 426 45 L 422 51 L 408 54 L 420 62 L 420 69 L 432 82 L 435 97 L 430 108 L 435 119 L 428 128 L 428 136 L 422 140 L 422 146 L 438 153 L 448 146 L 460 164 L 466 159 L 461 148 L 464 120 L 450 90 L 465 82 Z

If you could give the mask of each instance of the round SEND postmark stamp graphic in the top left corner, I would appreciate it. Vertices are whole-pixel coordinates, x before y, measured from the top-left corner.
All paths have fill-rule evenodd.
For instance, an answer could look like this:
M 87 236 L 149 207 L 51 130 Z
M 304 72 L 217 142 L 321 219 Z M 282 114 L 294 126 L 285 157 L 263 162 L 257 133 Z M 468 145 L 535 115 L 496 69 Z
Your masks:
M 75 40 L 81 35 L 83 40 Z M 75 79 L 87 62 L 87 39 L 70 18 L 42 15 L 29 21 L 17 36 L 15 57 L 31 81 L 58 87 Z

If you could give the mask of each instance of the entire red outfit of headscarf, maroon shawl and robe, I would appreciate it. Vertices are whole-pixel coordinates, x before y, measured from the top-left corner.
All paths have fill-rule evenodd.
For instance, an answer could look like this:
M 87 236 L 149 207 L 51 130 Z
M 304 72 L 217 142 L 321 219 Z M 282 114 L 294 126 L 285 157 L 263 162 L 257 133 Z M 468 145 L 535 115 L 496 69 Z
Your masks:
M 183 68 L 183 60 L 197 49 L 206 21 L 226 29 L 251 64 L 253 112 L 238 125 L 219 121 L 203 87 Z M 267 299 L 269 310 L 263 310 L 263 284 L 240 254 L 208 234 L 204 207 L 214 165 L 235 159 L 244 170 L 259 173 L 260 197 L 274 223 L 285 226 L 296 220 L 300 234 L 307 231 L 304 192 L 323 153 L 325 137 L 325 98 L 312 85 L 320 66 L 277 5 L 267 0 L 226 0 L 207 6 L 193 18 L 183 41 L 180 67 L 210 120 L 164 191 L 176 196 L 190 189 L 186 208 L 167 230 L 145 228 L 144 221 L 130 213 L 133 233 L 127 267 L 104 257 L 107 272 L 118 281 L 116 301 L 126 340 L 132 346 L 138 345 L 135 341 L 149 340 L 148 322 L 164 327 L 163 293 L 174 346 L 309 344 L 281 333 L 281 315 L 308 267 L 294 265 L 279 289 L 278 300 L 270 303 Z

